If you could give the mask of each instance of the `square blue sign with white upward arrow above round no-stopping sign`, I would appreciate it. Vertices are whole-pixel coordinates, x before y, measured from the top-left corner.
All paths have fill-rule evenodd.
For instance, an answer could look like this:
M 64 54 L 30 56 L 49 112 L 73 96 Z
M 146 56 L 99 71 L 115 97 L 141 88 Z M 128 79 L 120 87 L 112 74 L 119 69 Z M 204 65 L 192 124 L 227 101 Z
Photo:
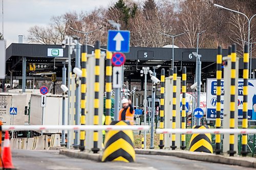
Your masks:
M 129 53 L 129 51 L 130 51 L 130 31 L 109 30 L 108 51 Z

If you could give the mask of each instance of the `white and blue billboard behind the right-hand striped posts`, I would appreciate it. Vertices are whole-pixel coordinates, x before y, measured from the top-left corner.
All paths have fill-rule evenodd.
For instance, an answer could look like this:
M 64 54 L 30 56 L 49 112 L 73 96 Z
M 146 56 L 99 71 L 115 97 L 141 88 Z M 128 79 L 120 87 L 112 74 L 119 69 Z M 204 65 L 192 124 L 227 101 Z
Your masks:
M 243 79 L 238 80 L 238 119 L 243 118 Z M 207 100 L 206 100 L 206 118 L 216 119 L 216 104 L 217 104 L 217 80 L 207 79 Z M 221 119 L 223 118 L 224 108 L 224 80 L 221 80 Z M 225 106 L 229 107 L 229 106 Z M 256 120 L 256 80 L 248 80 L 248 120 Z

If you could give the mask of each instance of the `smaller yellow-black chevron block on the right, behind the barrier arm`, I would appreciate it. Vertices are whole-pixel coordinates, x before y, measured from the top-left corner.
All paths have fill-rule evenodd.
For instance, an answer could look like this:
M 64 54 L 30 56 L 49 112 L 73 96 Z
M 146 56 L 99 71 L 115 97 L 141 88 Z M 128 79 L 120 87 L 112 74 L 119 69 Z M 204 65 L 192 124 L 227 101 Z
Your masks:
M 207 126 L 194 126 L 193 129 L 209 129 Z M 190 138 L 190 148 L 191 152 L 206 152 L 213 153 L 211 145 L 210 133 L 199 134 L 195 133 Z

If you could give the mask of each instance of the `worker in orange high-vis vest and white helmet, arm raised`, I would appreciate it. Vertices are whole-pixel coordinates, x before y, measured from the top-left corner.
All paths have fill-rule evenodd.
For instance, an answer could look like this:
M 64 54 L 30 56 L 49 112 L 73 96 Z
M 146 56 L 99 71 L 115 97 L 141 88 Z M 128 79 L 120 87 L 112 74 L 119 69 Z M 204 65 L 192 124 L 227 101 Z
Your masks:
M 119 111 L 119 120 L 126 120 L 130 122 L 130 125 L 133 125 L 134 122 L 134 108 L 132 101 L 129 99 L 122 99 L 123 108 Z

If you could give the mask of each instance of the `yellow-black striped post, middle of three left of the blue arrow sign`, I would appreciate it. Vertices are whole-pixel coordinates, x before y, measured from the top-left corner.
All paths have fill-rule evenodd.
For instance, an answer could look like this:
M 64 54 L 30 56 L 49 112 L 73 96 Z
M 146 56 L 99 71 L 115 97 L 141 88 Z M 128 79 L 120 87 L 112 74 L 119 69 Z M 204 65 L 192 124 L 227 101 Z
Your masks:
M 93 125 L 99 125 L 99 73 L 100 73 L 100 67 L 99 67 L 99 59 L 100 59 L 100 44 L 99 41 L 96 41 L 95 44 L 95 83 L 94 83 L 94 120 L 93 120 Z M 95 130 L 93 132 L 93 148 L 92 151 L 93 153 L 98 153 L 99 148 L 98 148 L 98 138 L 99 134 L 98 131 Z

